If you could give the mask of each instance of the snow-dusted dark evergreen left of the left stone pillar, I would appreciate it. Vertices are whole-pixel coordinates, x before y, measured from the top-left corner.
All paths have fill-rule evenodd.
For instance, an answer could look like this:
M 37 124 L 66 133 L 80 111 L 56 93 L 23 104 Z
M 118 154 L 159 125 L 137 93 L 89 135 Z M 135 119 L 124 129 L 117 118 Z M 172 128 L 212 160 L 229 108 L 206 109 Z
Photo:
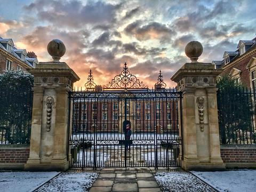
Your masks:
M 0 134 L 6 143 L 28 143 L 34 76 L 23 70 L 0 74 Z

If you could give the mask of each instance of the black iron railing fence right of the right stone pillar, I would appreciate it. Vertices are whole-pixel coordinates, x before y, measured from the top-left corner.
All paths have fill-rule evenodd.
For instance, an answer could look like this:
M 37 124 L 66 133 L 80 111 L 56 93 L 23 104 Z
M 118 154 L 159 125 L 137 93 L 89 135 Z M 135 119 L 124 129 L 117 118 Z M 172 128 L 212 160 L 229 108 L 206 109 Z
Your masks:
M 238 87 L 232 91 L 218 91 L 218 117 L 221 144 L 252 145 L 255 135 L 255 92 Z

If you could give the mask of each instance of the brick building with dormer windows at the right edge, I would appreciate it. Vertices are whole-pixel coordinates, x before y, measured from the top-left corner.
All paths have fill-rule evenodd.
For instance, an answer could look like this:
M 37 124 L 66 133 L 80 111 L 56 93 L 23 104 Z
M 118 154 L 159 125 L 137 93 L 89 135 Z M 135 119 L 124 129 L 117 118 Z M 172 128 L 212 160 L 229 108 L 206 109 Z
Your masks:
M 252 40 L 240 40 L 235 51 L 225 51 L 222 61 L 212 61 L 215 68 L 222 68 L 220 76 L 229 75 L 246 87 L 256 88 L 253 81 L 256 77 L 254 63 L 256 57 L 256 37 Z M 250 63 L 250 65 L 249 65 Z M 253 64 L 253 65 L 252 65 Z

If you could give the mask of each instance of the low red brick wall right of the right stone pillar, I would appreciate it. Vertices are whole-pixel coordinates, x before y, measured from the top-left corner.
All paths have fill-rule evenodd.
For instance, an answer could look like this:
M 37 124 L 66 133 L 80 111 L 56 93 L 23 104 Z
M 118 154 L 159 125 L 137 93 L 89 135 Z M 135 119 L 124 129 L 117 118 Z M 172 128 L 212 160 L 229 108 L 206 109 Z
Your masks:
M 256 168 L 256 145 L 221 145 L 220 153 L 227 168 Z

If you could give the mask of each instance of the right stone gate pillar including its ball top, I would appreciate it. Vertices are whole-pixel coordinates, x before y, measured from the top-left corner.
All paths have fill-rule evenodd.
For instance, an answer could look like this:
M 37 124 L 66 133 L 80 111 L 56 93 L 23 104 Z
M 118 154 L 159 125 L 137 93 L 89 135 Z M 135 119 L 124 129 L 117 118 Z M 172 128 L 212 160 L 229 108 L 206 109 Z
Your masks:
M 171 79 L 183 92 L 182 113 L 179 125 L 183 131 L 183 161 L 185 170 L 225 170 L 220 156 L 219 123 L 217 108 L 217 80 L 221 69 L 211 63 L 198 62 L 203 47 L 190 42 L 185 48 L 191 63 L 185 63 Z M 181 129 L 180 129 L 181 130 Z

